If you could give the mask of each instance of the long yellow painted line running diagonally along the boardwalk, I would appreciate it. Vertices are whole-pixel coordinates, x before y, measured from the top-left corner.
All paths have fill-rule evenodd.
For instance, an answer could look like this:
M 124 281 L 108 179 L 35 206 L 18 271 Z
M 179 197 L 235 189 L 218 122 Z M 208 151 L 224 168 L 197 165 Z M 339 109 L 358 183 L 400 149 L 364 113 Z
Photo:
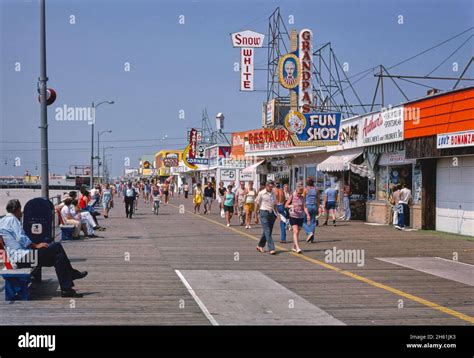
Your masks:
M 172 204 L 171 204 L 172 205 Z M 175 205 L 172 205 L 172 206 L 175 206 Z M 177 207 L 177 206 L 175 206 Z M 178 207 L 177 207 L 178 208 Z M 193 216 L 196 216 L 202 220 L 206 220 L 208 222 L 211 222 L 211 223 L 214 223 L 218 226 L 222 226 L 224 229 L 227 229 L 227 230 L 230 230 L 230 231 L 233 231 L 237 234 L 240 234 L 242 236 L 245 236 L 245 237 L 248 237 L 249 239 L 252 239 L 254 241 L 260 241 L 259 238 L 253 236 L 253 235 L 250 235 L 250 234 L 247 234 L 245 232 L 242 232 L 240 230 L 237 230 L 237 229 L 234 229 L 233 227 L 228 227 L 227 225 L 224 225 L 218 221 L 215 221 L 215 220 L 212 220 L 212 219 L 209 219 L 205 216 L 201 216 L 201 215 L 197 215 L 197 214 L 194 214 L 193 212 L 189 211 L 189 210 L 186 210 L 187 213 L 193 215 Z M 388 285 L 385 285 L 383 283 L 380 283 L 380 282 L 377 282 L 377 281 L 374 281 L 374 280 L 371 280 L 370 278 L 366 278 L 366 277 L 363 277 L 363 276 L 360 276 L 356 273 L 353 273 L 351 271 L 347 271 L 347 270 L 343 270 L 339 267 L 336 267 L 336 266 L 333 266 L 333 265 L 330 265 L 330 264 L 327 264 L 323 261 L 320 261 L 320 260 L 316 260 L 316 259 L 313 259 L 311 257 L 308 257 L 308 256 L 305 256 L 305 255 L 302 255 L 302 254 L 297 254 L 297 253 L 293 253 L 292 251 L 289 251 L 287 250 L 286 248 L 284 247 L 281 247 L 279 245 L 275 245 L 275 247 L 281 251 L 286 251 L 288 253 L 290 253 L 291 255 L 297 257 L 297 258 L 300 258 L 302 260 L 306 260 L 308 262 L 311 262 L 313 264 L 316 264 L 316 265 L 319 265 L 319 266 L 322 266 L 324 268 L 327 268 L 329 270 L 332 270 L 332 271 L 335 271 L 335 272 L 339 272 L 345 276 L 348 276 L 348 277 L 351 277 L 355 280 L 358 280 L 358 281 L 361 281 L 361 282 L 365 282 L 373 287 L 377 287 L 377 288 L 380 288 L 382 290 L 385 290 L 385 291 L 388 291 L 388 292 L 391 292 L 395 295 L 398 295 L 398 296 L 401 296 L 403 298 L 406 298 L 406 299 L 409 299 L 411 301 L 414 301 L 414 302 L 417 302 L 421 305 L 424 305 L 424 306 L 427 306 L 427 307 L 430 307 L 432 309 L 435 309 L 435 310 L 438 310 L 440 312 L 443 312 L 443 313 L 446 313 L 448 315 L 451 315 L 453 317 L 456 317 L 456 318 L 459 318 L 463 321 L 467 321 L 469 323 L 472 323 L 474 324 L 474 317 L 472 316 L 469 316 L 469 315 L 466 315 L 464 313 L 461 313 L 461 312 L 458 312 L 458 311 L 455 311 L 451 308 L 448 308 L 448 307 L 444 307 L 444 306 L 441 306 L 437 303 L 434 303 L 434 302 L 431 302 L 431 301 L 428 301 L 428 300 L 425 300 L 424 298 L 421 298 L 421 297 L 418 297 L 418 296 L 415 296 L 415 295 L 412 295 L 410 293 L 407 293 L 407 292 L 404 292 L 402 290 L 399 290 L 399 289 L 396 289 L 394 287 L 391 287 L 391 286 L 388 286 Z

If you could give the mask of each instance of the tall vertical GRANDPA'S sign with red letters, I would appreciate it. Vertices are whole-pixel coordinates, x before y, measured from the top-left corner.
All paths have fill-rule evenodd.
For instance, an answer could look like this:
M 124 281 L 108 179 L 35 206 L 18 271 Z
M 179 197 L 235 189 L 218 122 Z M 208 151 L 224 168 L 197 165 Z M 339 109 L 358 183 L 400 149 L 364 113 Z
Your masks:
M 299 57 L 301 63 L 301 76 L 299 82 L 298 108 L 301 113 L 311 112 L 313 106 L 313 83 L 311 81 L 313 67 L 313 32 L 303 29 L 299 34 Z

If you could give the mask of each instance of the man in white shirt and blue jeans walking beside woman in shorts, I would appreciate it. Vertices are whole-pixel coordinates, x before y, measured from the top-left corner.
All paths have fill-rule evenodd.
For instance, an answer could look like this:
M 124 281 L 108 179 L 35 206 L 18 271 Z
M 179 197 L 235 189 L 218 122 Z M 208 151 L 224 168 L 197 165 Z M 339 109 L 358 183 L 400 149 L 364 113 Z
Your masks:
M 264 253 L 265 244 L 268 246 L 270 255 L 275 255 L 275 244 L 272 239 L 273 225 L 277 218 L 277 201 L 273 192 L 274 182 L 268 180 L 265 184 L 265 189 L 260 191 L 255 200 L 257 204 L 257 212 L 262 223 L 263 233 L 257 245 L 257 251 Z

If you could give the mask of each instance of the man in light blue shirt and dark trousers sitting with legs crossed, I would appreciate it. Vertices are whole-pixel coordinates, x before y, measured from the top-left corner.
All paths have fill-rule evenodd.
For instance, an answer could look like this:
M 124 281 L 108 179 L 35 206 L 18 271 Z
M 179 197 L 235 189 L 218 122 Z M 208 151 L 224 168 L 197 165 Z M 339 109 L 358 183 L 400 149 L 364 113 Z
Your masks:
M 3 237 L 8 257 L 10 261 L 12 258 L 19 261 L 18 268 L 31 267 L 31 263 L 25 264 L 22 262 L 23 256 L 28 254 L 29 250 L 38 250 L 38 266 L 51 267 L 56 269 L 59 285 L 61 287 L 62 297 L 82 297 L 83 295 L 77 293 L 74 287 L 74 280 L 79 280 L 87 276 L 87 271 L 80 272 L 73 269 L 71 262 L 60 243 L 53 242 L 50 244 L 31 242 L 28 236 L 25 235 L 21 225 L 21 211 L 20 201 L 12 199 L 8 202 L 7 215 L 0 220 L 0 235 Z

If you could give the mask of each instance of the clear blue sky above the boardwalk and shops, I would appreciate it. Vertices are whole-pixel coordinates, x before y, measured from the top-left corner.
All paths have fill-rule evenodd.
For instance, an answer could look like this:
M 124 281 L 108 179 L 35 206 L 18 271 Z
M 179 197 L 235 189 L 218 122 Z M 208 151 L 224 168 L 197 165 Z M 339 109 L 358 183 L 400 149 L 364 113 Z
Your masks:
M 276 7 L 288 29 L 313 31 L 314 48 L 331 42 L 339 61 L 349 65 L 348 76 L 379 64 L 390 67 L 471 28 L 390 69 L 392 74 L 426 75 L 467 41 L 432 74 L 456 77 L 473 54 L 473 4 L 47 0 L 48 87 L 58 93 L 48 106 L 50 172 L 64 175 L 70 165 L 90 162 L 91 128 L 85 121 L 58 121 L 56 111 L 64 105 L 115 102 L 97 109 L 95 126 L 112 130 L 101 136 L 101 148 L 113 147 L 107 149 L 107 158 L 114 176 L 123 173 L 126 157 L 136 167 L 141 155 L 184 148 L 187 128 L 200 126 L 203 109 L 213 123 L 222 112 L 226 132 L 260 127 L 267 51 L 255 51 L 258 91 L 240 92 L 240 75 L 234 71 L 240 51 L 232 47 L 230 33 L 250 29 L 266 35 L 268 16 Z M 39 174 L 39 1 L 0 0 L 0 30 L 0 176 L 23 175 L 25 170 Z M 372 71 L 367 74 L 354 86 L 362 102 L 371 103 L 376 78 Z M 447 90 L 453 82 L 423 83 Z M 463 83 L 468 84 L 473 82 Z M 386 86 L 388 104 L 404 100 L 394 86 Z M 423 97 L 427 90 L 408 82 L 400 86 L 410 99 Z M 14 166 L 15 158 L 20 166 Z

